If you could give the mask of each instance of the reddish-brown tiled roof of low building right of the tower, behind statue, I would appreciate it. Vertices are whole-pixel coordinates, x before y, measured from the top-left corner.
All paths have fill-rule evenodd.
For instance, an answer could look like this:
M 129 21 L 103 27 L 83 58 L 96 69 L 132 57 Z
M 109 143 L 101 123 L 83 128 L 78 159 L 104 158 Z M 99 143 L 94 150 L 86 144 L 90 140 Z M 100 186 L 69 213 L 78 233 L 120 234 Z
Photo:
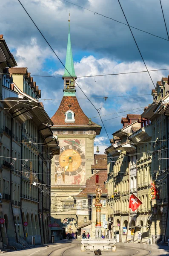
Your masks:
M 97 173 L 99 175 L 99 183 L 100 189 L 102 190 L 102 194 L 107 194 L 107 189 L 105 188 L 104 182 L 107 180 L 107 170 L 100 171 Z M 83 189 L 78 195 L 77 198 L 87 197 L 88 194 L 95 194 L 96 189 L 96 174 L 92 175 L 89 179 L 86 180 L 86 188 Z

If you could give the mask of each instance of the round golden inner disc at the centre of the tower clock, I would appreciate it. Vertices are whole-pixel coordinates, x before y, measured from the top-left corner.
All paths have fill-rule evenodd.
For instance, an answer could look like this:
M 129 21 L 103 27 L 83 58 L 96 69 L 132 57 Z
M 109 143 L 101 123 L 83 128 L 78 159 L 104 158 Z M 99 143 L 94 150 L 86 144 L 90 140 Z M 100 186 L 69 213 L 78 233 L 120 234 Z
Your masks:
M 59 164 L 64 168 L 66 175 L 75 175 L 78 172 L 82 159 L 80 154 L 74 149 L 67 149 L 60 154 Z

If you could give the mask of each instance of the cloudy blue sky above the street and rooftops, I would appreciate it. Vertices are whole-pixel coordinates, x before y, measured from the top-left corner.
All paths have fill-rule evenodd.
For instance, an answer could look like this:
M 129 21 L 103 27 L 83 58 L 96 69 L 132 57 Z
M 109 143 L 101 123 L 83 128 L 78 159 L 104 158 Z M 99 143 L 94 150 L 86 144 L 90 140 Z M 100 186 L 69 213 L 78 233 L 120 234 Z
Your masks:
M 68 17 L 74 69 L 77 84 L 90 98 L 104 121 L 109 138 L 122 128 L 121 117 L 128 113 L 142 113 L 152 103 L 154 88 L 148 73 L 121 74 L 145 71 L 146 67 L 132 38 L 117 0 L 20 0 L 40 31 L 65 64 L 68 38 Z M 169 28 L 169 1 L 162 0 L 166 26 Z M 145 30 L 161 38 L 132 28 L 137 45 L 148 70 L 169 68 L 169 41 L 159 0 L 120 0 L 130 26 Z M 88 9 L 88 10 L 87 10 Z M 89 11 L 90 10 L 90 11 Z M 92 12 L 91 12 L 92 11 Z M 98 14 L 97 14 L 98 13 Z M 102 15 L 109 17 L 103 17 Z M 112 18 L 112 19 L 111 19 Z M 28 67 L 28 72 L 41 89 L 42 102 L 50 117 L 54 115 L 63 97 L 62 78 L 36 77 L 62 76 L 64 68 L 43 39 L 18 0 L 1 1 L 0 34 L 17 61 L 17 67 Z M 150 73 L 154 84 L 167 77 L 169 70 Z M 96 109 L 77 87 L 77 99 L 84 113 L 93 122 L 102 125 Z M 132 95 L 132 96 L 130 96 Z M 141 96 L 137 96 L 141 95 Z M 103 99 L 108 97 L 108 99 Z M 48 99 L 48 100 L 44 100 Z M 50 100 L 49 100 L 50 99 Z M 103 126 L 103 125 L 102 125 Z M 100 153 L 108 147 L 109 139 L 102 127 L 95 139 Z

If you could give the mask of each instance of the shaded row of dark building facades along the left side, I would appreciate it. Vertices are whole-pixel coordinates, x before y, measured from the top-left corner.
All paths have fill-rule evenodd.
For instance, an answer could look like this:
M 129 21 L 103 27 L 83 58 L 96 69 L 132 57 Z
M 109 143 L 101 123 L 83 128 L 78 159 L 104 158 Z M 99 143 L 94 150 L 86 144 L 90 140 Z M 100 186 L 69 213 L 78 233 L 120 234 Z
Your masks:
M 9 51 L 3 36 L 1 41 Z M 4 245 L 22 248 L 32 236 L 36 244 L 50 241 L 51 159 L 59 147 L 50 128 L 53 123 L 38 102 L 36 82 L 27 68 L 8 63 L 1 64 L 0 72 L 0 217 L 5 220 L 0 239 Z

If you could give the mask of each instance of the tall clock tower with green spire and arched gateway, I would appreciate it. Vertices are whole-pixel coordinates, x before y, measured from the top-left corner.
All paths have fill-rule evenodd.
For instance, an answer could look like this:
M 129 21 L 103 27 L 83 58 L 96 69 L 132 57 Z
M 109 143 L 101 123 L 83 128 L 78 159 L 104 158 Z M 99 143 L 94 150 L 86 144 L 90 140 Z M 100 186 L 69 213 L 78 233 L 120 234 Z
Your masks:
M 70 18 L 65 67 L 63 98 L 52 116 L 54 125 L 51 128 L 58 137 L 60 155 L 52 159 L 51 217 L 52 223 L 56 221 L 60 227 L 65 227 L 65 232 L 75 232 L 79 224 L 75 196 L 86 187 L 86 179 L 92 176 L 94 140 L 100 134 L 101 126 L 85 115 L 76 98 L 77 76 L 70 40 Z

